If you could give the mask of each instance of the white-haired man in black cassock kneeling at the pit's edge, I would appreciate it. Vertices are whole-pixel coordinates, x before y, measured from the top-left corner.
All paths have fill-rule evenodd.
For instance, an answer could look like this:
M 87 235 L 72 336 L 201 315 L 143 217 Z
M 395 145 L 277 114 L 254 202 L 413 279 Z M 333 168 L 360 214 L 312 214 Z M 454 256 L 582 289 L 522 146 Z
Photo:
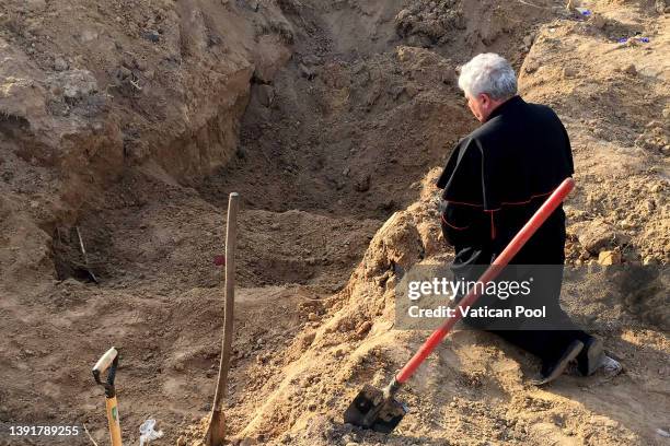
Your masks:
M 459 86 L 482 126 L 455 146 L 437 186 L 443 189 L 442 233 L 455 248 L 452 270 L 461 279 L 476 280 L 467 277 L 471 267 L 493 262 L 554 189 L 573 175 L 573 155 L 556 114 L 517 94 L 515 71 L 503 57 L 473 58 L 461 69 Z M 556 379 L 573 360 L 585 376 L 603 364 L 620 367 L 604 355 L 600 340 L 574 326 L 561 309 L 565 239 L 565 213 L 559 207 L 511 262 L 554 266 L 552 285 L 542 292 L 548 293 L 543 301 L 552 304 L 553 317 L 561 314 L 562 328 L 489 330 L 540 357 L 536 384 Z M 481 320 L 464 321 L 482 327 Z

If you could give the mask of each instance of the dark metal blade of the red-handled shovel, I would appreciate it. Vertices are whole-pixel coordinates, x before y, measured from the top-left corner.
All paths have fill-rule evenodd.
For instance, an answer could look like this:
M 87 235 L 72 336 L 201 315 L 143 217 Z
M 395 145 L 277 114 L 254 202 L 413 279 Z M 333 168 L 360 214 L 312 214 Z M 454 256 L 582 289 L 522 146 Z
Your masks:
M 405 413 L 407 413 L 405 404 L 384 397 L 382 390 L 366 384 L 345 411 L 344 421 L 388 434 L 393 432 Z

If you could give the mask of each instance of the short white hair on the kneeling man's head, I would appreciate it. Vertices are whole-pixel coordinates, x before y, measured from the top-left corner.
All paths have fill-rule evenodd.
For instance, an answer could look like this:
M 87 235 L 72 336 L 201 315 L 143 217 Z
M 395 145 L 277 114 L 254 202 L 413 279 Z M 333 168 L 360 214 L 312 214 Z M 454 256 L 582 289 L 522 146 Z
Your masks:
M 471 97 L 487 94 L 493 99 L 507 99 L 517 94 L 517 77 L 504 57 L 483 52 L 461 67 L 459 87 Z

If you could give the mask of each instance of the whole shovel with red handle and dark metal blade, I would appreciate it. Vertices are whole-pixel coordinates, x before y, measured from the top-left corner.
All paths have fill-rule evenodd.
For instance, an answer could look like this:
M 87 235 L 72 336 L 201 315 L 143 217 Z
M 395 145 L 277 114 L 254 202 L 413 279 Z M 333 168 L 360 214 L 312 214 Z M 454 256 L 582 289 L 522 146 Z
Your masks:
M 473 286 L 472 291 L 461 300 L 457 308 L 466 308 L 477 301 L 480 297 L 477 290 L 483 290 L 488 282 L 500 273 L 538 228 L 542 226 L 546 219 L 548 219 L 556 208 L 558 208 L 561 202 L 574 187 L 575 181 L 573 178 L 566 178 L 561 186 L 554 190 L 515 238 L 511 239 L 503 253 L 494 260 L 490 267 L 484 271 L 478 280 L 484 286 Z M 430 334 L 426 342 L 424 342 L 409 362 L 407 362 L 407 364 L 405 364 L 405 366 L 393 377 L 386 387 L 380 390 L 371 385 L 366 385 L 345 411 L 345 423 L 351 423 L 360 427 L 383 433 L 392 432 L 403 416 L 405 416 L 405 413 L 407 413 L 407 408 L 402 402 L 395 400 L 395 395 L 462 317 L 461 312 L 454 312 L 453 315 L 453 317 L 448 318 L 444 324 Z

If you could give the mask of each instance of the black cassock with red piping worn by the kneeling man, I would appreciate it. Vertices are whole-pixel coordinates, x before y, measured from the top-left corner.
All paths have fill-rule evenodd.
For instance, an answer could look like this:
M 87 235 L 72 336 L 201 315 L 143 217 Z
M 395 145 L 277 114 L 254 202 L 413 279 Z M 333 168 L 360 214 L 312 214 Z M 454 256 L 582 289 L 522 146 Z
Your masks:
M 444 238 L 455 248 L 454 274 L 476 280 L 483 268 L 473 266 L 489 265 L 573 173 L 567 132 L 550 107 L 515 96 L 496 108 L 459 142 L 437 181 L 444 189 L 440 219 Z M 565 238 L 565 213 L 559 207 L 511 261 L 557 266 L 552 267 L 556 273 L 552 284 L 543 286 L 542 300 L 553 305 L 554 317 L 558 312 L 565 318 L 563 329 L 489 330 L 543 362 L 557 359 L 573 340 L 590 338 L 559 307 Z M 481 319 L 465 322 L 486 329 Z

